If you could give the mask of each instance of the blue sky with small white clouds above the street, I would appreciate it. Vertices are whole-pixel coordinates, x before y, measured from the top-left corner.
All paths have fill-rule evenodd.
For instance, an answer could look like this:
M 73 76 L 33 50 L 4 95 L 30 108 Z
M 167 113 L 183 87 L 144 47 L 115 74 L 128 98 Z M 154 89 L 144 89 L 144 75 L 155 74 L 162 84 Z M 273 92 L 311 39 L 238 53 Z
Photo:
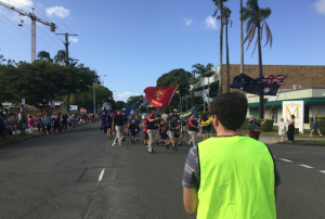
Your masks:
M 192 72 L 197 63 L 220 64 L 220 22 L 211 16 L 216 10 L 212 0 L 0 1 L 25 12 L 35 8 L 38 17 L 56 24 L 55 33 L 37 24 L 36 52 L 46 50 L 54 57 L 64 49 L 64 36 L 55 34 L 77 34 L 70 38 L 69 56 L 96 70 L 116 101 L 143 94 L 172 69 Z M 239 2 L 226 2 L 233 20 L 231 64 L 240 63 Z M 259 0 L 259 4 L 272 10 L 266 23 L 273 46 L 262 48 L 263 64 L 324 65 L 325 0 Z M 30 62 L 30 20 L 0 5 L 0 54 Z M 251 56 L 252 49 L 253 44 L 245 51 L 245 64 L 258 64 L 258 52 Z

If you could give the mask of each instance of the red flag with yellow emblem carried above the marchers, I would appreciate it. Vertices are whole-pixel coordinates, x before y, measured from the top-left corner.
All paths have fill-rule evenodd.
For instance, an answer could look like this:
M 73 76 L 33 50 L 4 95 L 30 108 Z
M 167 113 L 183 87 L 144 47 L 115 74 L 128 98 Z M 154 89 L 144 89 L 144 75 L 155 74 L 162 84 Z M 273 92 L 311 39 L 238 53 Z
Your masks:
M 166 108 L 169 102 L 178 89 L 178 86 L 173 87 L 147 87 L 144 89 L 145 98 L 157 108 Z

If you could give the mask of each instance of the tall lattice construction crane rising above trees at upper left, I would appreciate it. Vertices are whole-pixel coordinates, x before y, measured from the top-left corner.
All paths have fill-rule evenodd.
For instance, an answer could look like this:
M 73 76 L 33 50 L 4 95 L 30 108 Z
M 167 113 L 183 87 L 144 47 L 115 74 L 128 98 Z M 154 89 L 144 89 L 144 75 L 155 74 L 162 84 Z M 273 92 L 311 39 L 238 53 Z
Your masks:
M 13 5 L 10 5 L 8 3 L 4 3 L 3 1 L 0 1 L 0 5 L 5 7 L 6 9 L 13 10 L 21 14 L 22 16 L 27 16 L 31 20 L 31 62 L 36 60 L 36 22 L 42 23 L 43 25 L 50 26 L 51 31 L 55 31 L 56 27 L 54 23 L 48 23 L 43 22 L 40 18 L 38 18 L 34 13 L 34 8 L 31 13 L 26 13 L 21 9 L 16 9 Z

